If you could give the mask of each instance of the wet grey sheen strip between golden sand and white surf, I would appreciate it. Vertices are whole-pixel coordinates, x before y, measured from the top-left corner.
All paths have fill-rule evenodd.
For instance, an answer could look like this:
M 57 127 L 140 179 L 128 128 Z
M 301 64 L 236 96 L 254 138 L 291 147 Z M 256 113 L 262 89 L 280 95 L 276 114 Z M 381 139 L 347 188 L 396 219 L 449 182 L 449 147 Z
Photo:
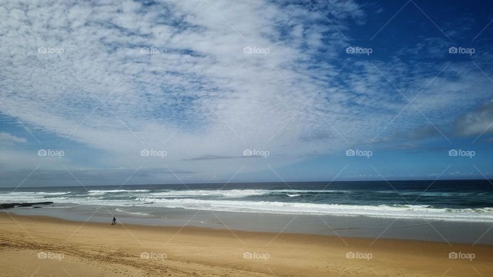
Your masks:
M 113 216 L 124 224 L 149 226 L 195 226 L 234 231 L 303 233 L 355 238 L 406 239 L 493 245 L 491 223 L 427 221 L 366 216 L 334 216 L 224 212 L 180 208 L 155 210 L 142 207 L 56 204 L 11 208 L 18 215 L 52 216 L 70 221 L 109 223 Z

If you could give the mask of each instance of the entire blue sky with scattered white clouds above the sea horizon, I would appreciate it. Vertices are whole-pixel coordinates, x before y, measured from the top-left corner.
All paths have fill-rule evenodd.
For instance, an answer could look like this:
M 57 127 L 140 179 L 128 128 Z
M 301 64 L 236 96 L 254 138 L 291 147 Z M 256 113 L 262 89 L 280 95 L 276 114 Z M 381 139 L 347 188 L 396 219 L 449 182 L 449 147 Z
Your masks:
M 493 178 L 489 1 L 0 3 L 0 186 Z

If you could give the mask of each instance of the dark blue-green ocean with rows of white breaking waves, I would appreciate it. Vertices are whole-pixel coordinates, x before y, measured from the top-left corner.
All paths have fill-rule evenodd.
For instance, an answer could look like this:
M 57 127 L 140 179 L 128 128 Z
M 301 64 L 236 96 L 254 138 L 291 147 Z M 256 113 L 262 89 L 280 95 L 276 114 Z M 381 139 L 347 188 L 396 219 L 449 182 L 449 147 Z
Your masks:
M 130 214 L 163 210 L 364 216 L 493 222 L 488 180 L 173 184 L 2 188 L 0 203 L 111 206 Z

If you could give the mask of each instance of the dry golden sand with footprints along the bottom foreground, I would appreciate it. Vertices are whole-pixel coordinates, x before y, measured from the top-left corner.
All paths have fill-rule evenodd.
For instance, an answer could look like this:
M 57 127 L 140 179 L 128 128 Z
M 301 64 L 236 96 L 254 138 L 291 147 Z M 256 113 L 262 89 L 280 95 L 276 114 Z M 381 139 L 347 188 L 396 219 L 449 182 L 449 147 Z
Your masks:
M 493 247 L 480 244 L 111 226 L 7 213 L 0 213 L 0 238 L 2 276 L 493 275 Z

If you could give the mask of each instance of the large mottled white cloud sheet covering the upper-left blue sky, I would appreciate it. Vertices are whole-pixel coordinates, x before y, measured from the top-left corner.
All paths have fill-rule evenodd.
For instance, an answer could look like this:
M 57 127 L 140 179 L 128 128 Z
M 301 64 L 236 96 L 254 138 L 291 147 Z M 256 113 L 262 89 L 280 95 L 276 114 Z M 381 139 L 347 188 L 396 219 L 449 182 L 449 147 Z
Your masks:
M 368 143 L 407 102 L 370 63 L 344 52 L 349 25 L 365 21 L 363 10 L 352 1 L 317 5 L 324 15 L 309 4 L 260 0 L 6 3 L 0 64 L 8 70 L 0 86 L 8 111 L 0 111 L 106 151 L 102 161 L 110 168 L 166 163 L 214 176 L 245 163 L 247 171 L 265 166 L 194 158 L 265 149 L 269 163 L 280 167 L 309 153 L 346 149 L 346 140 Z M 161 52 L 142 53 L 143 47 Z M 245 54 L 245 47 L 269 53 Z M 445 65 L 399 58 L 374 64 L 410 98 Z M 438 77 L 416 107 L 446 124 L 455 107 L 484 98 L 481 90 L 464 95 L 471 84 L 488 85 L 480 72 L 466 75 L 466 69 L 450 66 L 453 82 Z M 430 114 L 435 109 L 445 111 Z M 401 117 L 405 129 L 424 122 L 412 107 Z M 145 159 L 143 148 L 168 155 Z

